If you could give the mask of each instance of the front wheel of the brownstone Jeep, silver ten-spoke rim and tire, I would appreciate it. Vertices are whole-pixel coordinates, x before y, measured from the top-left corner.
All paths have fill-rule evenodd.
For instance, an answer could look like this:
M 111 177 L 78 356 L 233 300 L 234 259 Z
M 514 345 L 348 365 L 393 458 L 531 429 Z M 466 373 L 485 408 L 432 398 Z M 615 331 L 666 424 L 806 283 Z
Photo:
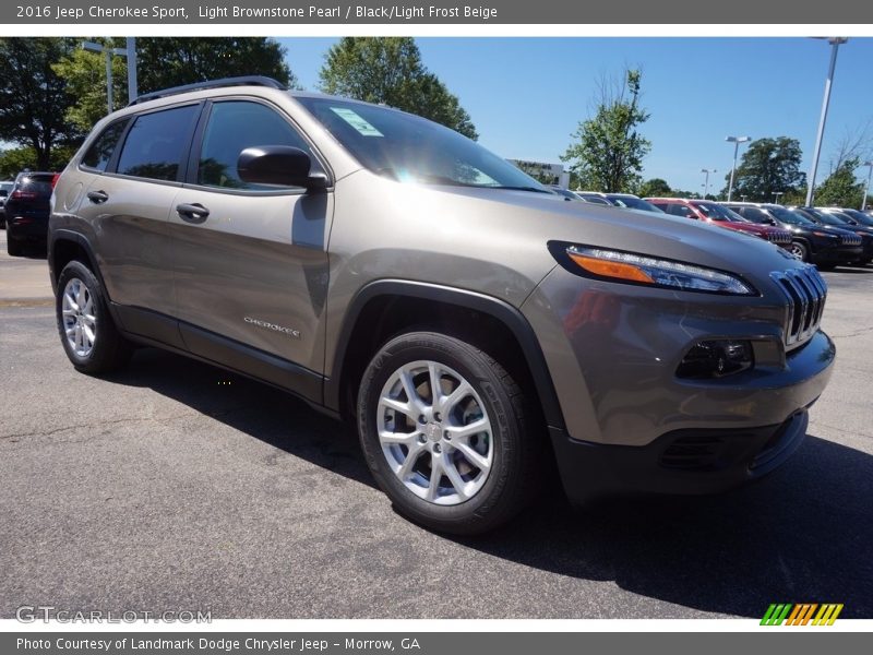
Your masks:
M 541 441 L 524 394 L 477 347 L 433 332 L 398 336 L 358 396 L 367 463 L 397 510 L 436 531 L 483 533 L 533 497 Z

